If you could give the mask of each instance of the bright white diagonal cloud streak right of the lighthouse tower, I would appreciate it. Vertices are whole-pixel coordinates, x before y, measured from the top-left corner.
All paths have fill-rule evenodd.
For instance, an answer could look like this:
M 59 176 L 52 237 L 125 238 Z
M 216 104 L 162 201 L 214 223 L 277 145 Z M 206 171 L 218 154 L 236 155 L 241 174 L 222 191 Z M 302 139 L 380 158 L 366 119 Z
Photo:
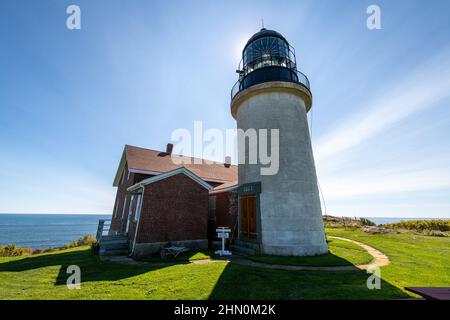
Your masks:
M 391 84 L 390 81 L 387 83 Z M 357 146 L 449 96 L 450 50 L 445 50 L 415 71 L 405 74 L 382 97 L 363 103 L 360 112 L 320 137 L 315 144 L 315 158 L 323 161 Z

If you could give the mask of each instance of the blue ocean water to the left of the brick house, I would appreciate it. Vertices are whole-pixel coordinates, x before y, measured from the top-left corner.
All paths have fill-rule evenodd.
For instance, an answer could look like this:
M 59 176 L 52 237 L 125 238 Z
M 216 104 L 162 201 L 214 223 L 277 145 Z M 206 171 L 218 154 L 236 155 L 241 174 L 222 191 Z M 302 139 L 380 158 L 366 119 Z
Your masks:
M 110 218 L 101 214 L 0 214 L 0 244 L 59 247 L 86 234 L 95 235 L 98 220 Z

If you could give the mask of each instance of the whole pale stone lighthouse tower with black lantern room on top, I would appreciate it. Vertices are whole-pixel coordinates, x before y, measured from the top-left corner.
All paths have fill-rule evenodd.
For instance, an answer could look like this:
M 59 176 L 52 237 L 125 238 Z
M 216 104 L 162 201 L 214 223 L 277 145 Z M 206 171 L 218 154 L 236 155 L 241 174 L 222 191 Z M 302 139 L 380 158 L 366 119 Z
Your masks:
M 239 154 L 245 163 L 238 166 L 238 245 L 274 255 L 326 253 L 306 116 L 312 94 L 308 78 L 297 70 L 294 49 L 280 33 L 263 28 L 245 45 L 237 72 L 231 114 L 238 130 L 266 129 L 269 155 L 274 150 L 272 129 L 279 135 L 275 174 L 262 174 L 267 163 L 259 157 L 256 164 L 249 161 L 250 135 L 238 139 L 239 152 L 245 150 L 244 157 Z

